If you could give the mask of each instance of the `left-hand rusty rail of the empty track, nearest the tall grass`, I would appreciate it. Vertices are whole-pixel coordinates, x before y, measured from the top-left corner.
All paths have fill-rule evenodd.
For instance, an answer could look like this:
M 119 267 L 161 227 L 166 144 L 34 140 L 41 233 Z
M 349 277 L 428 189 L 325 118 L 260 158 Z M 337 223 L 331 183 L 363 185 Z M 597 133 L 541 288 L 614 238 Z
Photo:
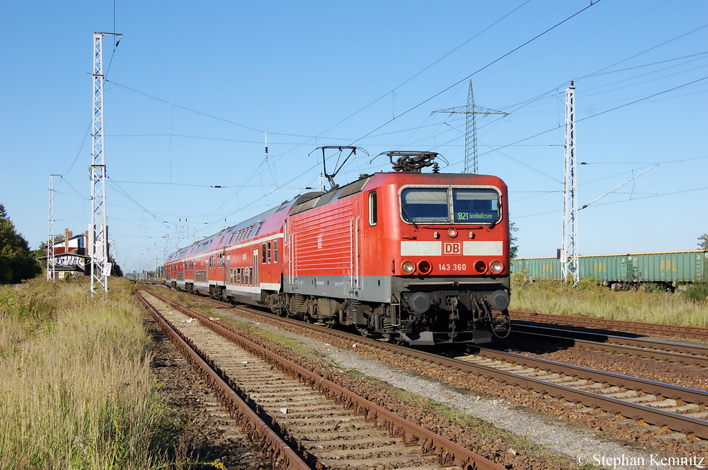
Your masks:
M 181 354 L 192 363 L 193 367 L 199 369 L 202 376 L 206 379 L 207 384 L 209 384 L 212 389 L 215 389 L 217 398 L 224 408 L 227 409 L 229 415 L 235 418 L 237 423 L 243 423 L 242 430 L 249 434 L 251 440 L 268 444 L 268 448 L 273 452 L 270 456 L 273 468 L 283 470 L 311 470 L 311 467 L 297 455 L 295 450 L 287 445 L 278 433 L 270 428 L 270 426 L 258 416 L 258 413 L 251 409 L 246 401 L 241 399 L 239 394 L 234 391 L 222 377 L 219 377 L 218 372 L 202 359 L 198 351 L 182 337 L 181 333 L 176 331 L 176 329 L 164 319 L 160 312 L 147 302 L 147 299 L 145 299 L 142 294 L 137 291 L 135 294 L 145 308 L 154 316 L 162 331 L 164 331 L 176 345 L 176 348 Z M 261 451 L 268 454 L 262 446 Z

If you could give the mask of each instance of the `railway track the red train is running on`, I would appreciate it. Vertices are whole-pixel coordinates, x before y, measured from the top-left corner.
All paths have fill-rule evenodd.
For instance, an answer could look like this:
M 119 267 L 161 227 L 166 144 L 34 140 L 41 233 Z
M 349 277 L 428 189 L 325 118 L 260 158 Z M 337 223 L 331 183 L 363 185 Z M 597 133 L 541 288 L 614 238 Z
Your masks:
M 221 302 L 218 304 L 222 308 L 229 306 Z M 682 436 L 692 440 L 708 440 L 708 397 L 704 391 L 501 351 L 479 349 L 472 351 L 477 352 L 476 355 L 467 357 L 442 357 L 316 325 L 305 326 L 300 321 L 251 309 L 239 307 L 236 310 L 245 310 L 270 321 L 290 323 L 289 329 L 295 328 L 300 332 L 314 330 L 353 341 L 360 345 L 358 352 L 364 352 L 365 348 L 361 346 L 366 345 L 367 348 L 393 352 L 399 357 L 399 363 L 410 362 L 405 358 L 416 359 L 474 375 L 482 381 L 496 381 L 532 390 L 538 396 L 563 399 L 569 407 L 575 404 L 572 411 L 576 413 L 589 413 L 599 408 L 605 411 L 606 416 L 611 416 L 608 418 L 610 423 L 630 428 L 636 424 L 642 433 L 649 433 L 661 440 L 681 439 Z

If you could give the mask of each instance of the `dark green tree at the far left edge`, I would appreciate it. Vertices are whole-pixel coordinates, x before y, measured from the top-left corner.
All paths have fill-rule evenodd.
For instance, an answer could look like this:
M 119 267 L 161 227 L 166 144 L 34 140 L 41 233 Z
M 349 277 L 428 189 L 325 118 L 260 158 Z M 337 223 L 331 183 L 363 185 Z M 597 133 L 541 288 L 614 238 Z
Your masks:
M 27 241 L 17 233 L 5 206 L 0 204 L 0 284 L 21 282 L 41 272 Z

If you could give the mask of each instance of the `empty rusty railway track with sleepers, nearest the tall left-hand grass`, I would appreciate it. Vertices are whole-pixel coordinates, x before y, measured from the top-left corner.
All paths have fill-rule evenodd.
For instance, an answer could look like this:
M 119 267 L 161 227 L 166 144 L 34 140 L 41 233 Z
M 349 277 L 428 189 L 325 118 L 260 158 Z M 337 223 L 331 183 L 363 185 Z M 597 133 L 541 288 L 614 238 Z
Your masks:
M 503 469 L 215 319 L 154 292 L 139 298 L 215 387 L 229 415 L 261 442 L 274 468 Z

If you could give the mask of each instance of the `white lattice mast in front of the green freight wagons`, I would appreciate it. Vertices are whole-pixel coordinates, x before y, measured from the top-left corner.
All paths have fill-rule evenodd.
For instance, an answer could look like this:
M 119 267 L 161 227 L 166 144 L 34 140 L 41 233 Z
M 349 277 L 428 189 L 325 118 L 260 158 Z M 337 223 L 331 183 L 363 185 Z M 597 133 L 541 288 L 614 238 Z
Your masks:
M 578 204 L 576 202 L 576 136 L 575 136 L 575 86 L 566 88 L 566 142 L 565 171 L 563 178 L 563 240 L 561 248 L 561 277 L 568 282 L 573 277 L 573 287 L 580 282 L 578 263 Z

